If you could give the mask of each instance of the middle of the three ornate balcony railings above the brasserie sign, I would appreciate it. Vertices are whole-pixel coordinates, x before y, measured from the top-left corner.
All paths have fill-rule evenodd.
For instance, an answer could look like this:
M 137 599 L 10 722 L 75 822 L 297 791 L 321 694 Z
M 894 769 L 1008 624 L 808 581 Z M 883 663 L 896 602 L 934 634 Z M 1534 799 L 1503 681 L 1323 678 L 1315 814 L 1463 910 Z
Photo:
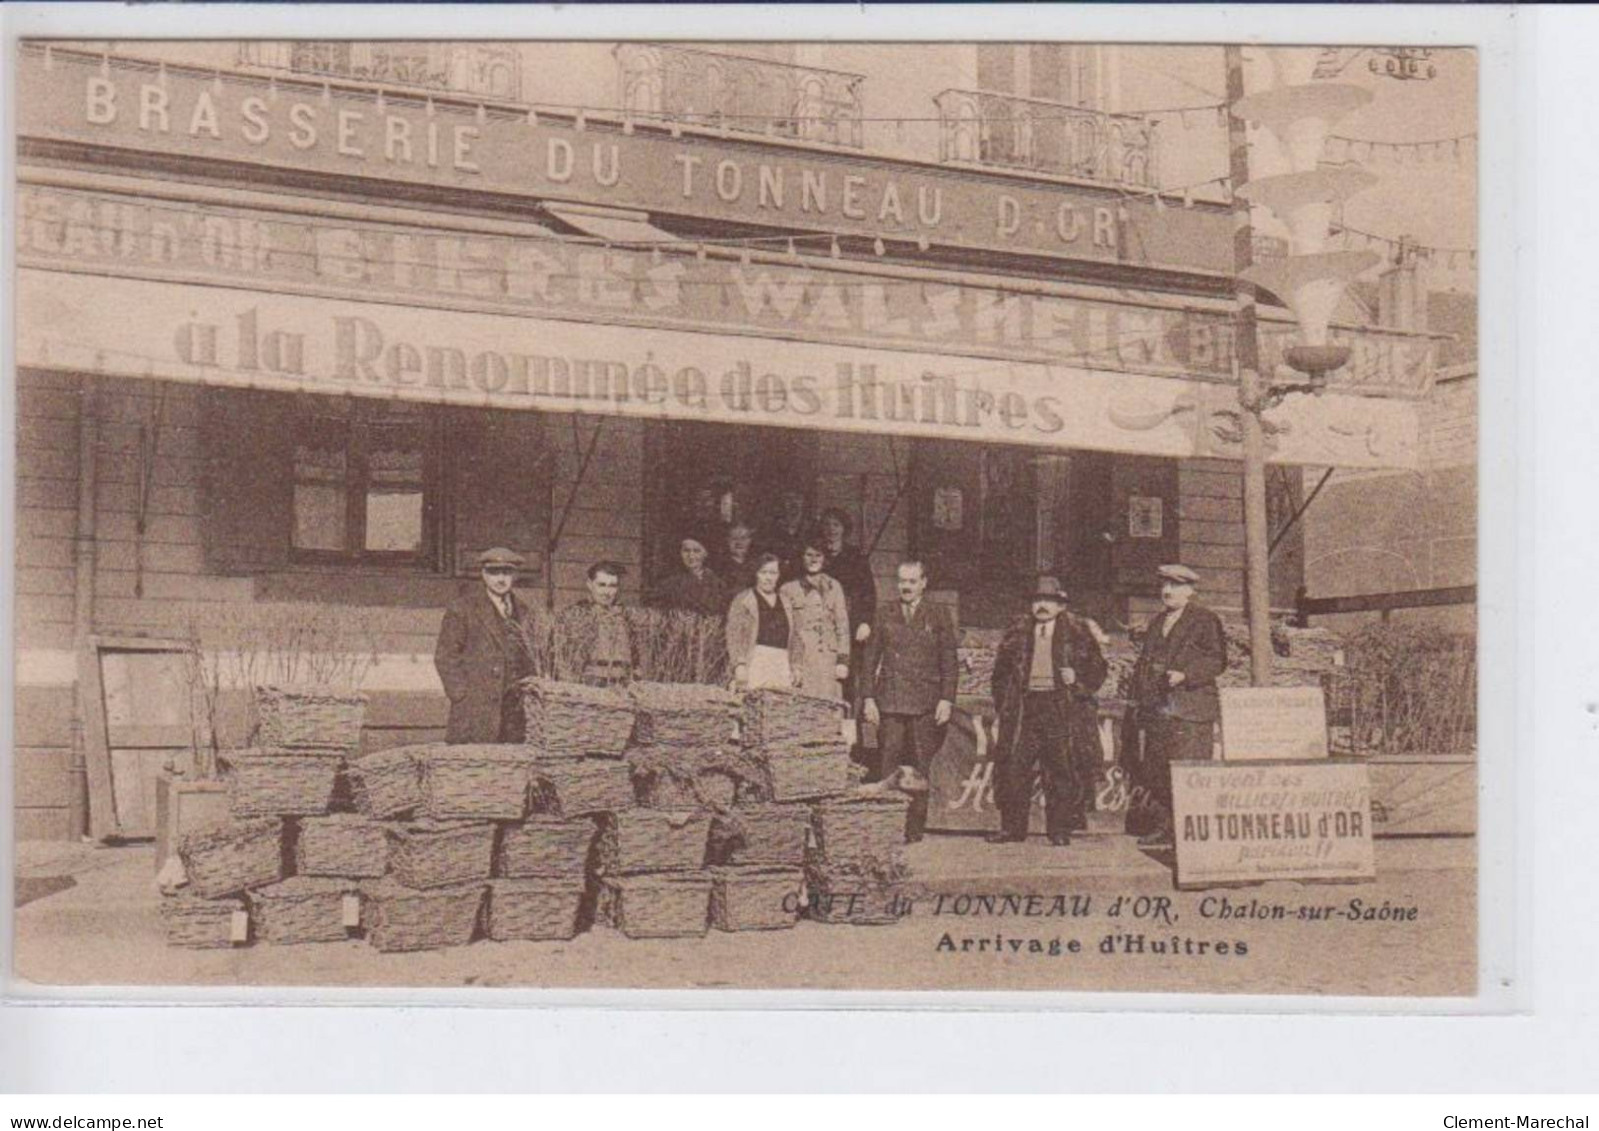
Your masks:
M 619 43 L 622 106 L 640 117 L 860 149 L 865 75 L 665 43 Z

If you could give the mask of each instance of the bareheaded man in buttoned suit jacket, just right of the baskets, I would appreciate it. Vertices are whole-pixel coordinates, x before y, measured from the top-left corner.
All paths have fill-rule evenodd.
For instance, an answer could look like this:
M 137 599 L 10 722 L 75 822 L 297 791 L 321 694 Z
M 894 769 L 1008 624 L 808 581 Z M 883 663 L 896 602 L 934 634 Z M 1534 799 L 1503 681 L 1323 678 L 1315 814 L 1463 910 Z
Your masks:
M 911 766 L 923 777 L 905 829 L 905 840 L 918 841 L 927 825 L 926 776 L 955 710 L 955 617 L 923 600 L 927 568 L 921 562 L 900 563 L 897 587 L 899 601 L 878 609 L 867 637 L 862 710 L 878 728 L 879 776 Z

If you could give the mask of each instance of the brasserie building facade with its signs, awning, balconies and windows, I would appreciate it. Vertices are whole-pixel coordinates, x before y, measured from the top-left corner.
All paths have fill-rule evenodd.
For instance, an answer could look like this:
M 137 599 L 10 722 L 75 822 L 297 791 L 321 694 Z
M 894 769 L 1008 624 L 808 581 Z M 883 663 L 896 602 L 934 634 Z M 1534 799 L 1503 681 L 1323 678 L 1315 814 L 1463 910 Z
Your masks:
M 831 515 L 878 598 L 926 565 L 963 709 L 1041 574 L 1110 648 L 1167 563 L 1241 622 L 1228 120 L 1190 107 L 1222 48 L 894 50 L 24 43 L 19 835 L 154 825 L 161 744 L 90 805 L 88 638 L 357 609 L 363 745 L 438 741 L 441 609 L 494 547 L 531 605 L 608 562 L 635 606 L 684 534 L 732 592 L 729 534 L 785 554 Z M 1278 609 L 1306 469 L 1417 466 L 1410 269 L 1342 299 L 1348 363 L 1273 410 Z M 1262 301 L 1262 371 L 1298 342 Z M 123 667 L 112 726 L 171 729 Z

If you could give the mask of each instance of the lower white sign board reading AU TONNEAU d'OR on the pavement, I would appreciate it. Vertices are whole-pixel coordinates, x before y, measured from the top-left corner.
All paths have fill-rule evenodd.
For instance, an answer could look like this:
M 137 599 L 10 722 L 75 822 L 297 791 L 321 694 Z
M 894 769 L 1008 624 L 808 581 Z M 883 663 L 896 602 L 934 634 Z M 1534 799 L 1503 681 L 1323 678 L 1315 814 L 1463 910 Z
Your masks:
M 1377 875 L 1361 761 L 1175 761 L 1172 825 L 1178 888 Z

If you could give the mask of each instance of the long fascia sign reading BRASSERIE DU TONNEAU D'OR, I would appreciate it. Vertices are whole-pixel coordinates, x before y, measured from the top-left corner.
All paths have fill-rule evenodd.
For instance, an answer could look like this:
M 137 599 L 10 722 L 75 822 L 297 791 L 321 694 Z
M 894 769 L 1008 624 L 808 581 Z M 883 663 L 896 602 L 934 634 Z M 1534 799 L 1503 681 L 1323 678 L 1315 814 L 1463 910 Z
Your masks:
M 1231 270 L 1231 213 L 1111 187 L 771 142 L 673 138 L 596 117 L 229 74 L 56 48 L 21 53 L 18 136 L 310 174 L 609 205 L 800 230 Z M 1135 254 L 1134 254 L 1135 250 Z

